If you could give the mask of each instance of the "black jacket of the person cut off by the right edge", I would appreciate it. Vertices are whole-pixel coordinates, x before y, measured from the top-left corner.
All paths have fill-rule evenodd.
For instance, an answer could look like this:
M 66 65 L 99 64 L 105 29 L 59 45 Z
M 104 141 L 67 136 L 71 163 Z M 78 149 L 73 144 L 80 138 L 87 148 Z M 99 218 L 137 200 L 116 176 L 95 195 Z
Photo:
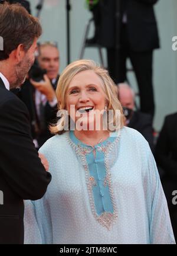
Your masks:
M 158 165 L 165 178 L 174 181 L 177 188 L 177 113 L 165 117 L 155 148 Z

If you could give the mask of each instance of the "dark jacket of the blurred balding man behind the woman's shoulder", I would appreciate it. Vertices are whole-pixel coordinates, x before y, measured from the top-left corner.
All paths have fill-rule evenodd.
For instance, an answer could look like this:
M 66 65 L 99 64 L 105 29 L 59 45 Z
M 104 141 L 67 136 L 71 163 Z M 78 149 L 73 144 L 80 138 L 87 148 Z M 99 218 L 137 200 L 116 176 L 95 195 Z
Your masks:
M 133 111 L 133 116 L 128 124 L 130 128 L 133 128 L 140 132 L 145 139 L 149 142 L 150 149 L 153 152 L 153 128 L 152 128 L 152 116 L 150 114 L 142 113 L 140 111 Z

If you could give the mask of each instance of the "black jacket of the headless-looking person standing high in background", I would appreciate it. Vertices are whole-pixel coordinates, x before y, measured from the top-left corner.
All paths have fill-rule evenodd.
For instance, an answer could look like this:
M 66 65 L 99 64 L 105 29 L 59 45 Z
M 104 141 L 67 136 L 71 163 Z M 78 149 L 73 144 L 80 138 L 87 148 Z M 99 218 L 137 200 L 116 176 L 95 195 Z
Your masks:
M 124 10 L 126 10 L 127 33 L 131 50 L 142 52 L 159 48 L 158 28 L 153 11 L 153 4 L 158 0 L 120 0 L 120 16 L 117 21 L 116 2 L 119 1 L 101 0 L 99 2 L 98 38 L 101 46 L 107 48 L 116 46 L 116 33 L 119 33 L 117 30 L 120 28 Z

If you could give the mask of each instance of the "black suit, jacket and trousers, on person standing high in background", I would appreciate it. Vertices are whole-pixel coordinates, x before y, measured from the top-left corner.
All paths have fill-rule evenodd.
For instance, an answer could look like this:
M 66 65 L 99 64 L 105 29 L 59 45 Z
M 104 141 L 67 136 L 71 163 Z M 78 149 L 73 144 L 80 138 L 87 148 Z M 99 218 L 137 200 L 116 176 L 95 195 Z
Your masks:
M 140 95 L 140 110 L 154 114 L 152 84 L 153 49 L 159 48 L 153 4 L 158 0 L 101 0 L 98 43 L 107 48 L 110 76 L 116 84 L 127 80 L 126 59 L 130 58 Z M 120 2 L 120 15 L 116 4 Z M 126 23 L 123 17 L 126 14 Z M 118 18 L 116 18 L 118 17 Z

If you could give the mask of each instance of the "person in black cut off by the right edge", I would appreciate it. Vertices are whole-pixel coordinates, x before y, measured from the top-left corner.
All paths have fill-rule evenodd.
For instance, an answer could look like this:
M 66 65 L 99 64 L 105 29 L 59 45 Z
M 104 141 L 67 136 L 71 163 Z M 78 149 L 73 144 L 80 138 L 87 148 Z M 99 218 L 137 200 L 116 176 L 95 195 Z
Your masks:
M 177 113 L 165 117 L 155 148 L 155 159 L 163 169 L 161 180 L 177 241 L 177 205 L 172 203 L 175 196 L 172 193 L 177 190 Z

